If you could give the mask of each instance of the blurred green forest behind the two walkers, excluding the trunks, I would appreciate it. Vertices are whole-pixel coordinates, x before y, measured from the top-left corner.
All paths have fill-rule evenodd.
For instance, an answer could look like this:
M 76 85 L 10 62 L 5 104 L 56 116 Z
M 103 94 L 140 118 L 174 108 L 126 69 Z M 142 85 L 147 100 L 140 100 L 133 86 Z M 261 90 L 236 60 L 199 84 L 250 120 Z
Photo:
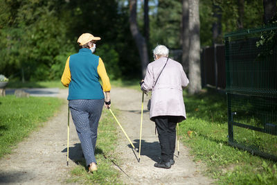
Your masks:
M 96 55 L 105 62 L 111 79 L 142 78 L 139 50 L 130 30 L 130 2 L 1 0 L 0 73 L 23 82 L 59 80 L 66 58 L 78 52 L 78 37 L 92 33 L 102 38 Z M 157 44 L 170 51 L 182 49 L 182 1 L 139 0 L 136 21 L 150 62 Z M 200 0 L 199 21 L 201 46 L 224 44 L 225 33 L 264 24 L 263 1 Z

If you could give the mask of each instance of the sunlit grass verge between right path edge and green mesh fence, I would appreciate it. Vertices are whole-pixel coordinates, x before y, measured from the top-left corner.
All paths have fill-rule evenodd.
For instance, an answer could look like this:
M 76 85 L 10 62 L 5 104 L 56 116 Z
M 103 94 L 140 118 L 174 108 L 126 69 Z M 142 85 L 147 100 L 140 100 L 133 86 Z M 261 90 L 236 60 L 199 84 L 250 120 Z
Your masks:
M 206 164 L 208 176 L 218 184 L 277 184 L 274 161 L 229 146 L 225 94 L 208 89 L 184 101 L 187 120 L 180 123 L 180 135 L 195 161 Z

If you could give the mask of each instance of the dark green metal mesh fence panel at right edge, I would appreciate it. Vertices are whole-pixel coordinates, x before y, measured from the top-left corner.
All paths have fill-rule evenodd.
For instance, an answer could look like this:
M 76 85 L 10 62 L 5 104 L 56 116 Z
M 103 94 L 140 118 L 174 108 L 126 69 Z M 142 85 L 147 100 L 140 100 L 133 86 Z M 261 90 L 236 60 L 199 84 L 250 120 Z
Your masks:
M 224 39 L 229 143 L 277 161 L 277 24 Z

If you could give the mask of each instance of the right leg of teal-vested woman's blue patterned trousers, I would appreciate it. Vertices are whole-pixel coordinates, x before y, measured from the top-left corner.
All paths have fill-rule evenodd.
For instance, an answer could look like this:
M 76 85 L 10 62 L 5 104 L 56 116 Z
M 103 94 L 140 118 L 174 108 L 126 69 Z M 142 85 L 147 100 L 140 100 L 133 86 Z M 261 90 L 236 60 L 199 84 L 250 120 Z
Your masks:
M 102 114 L 103 105 L 104 99 L 89 100 L 89 126 L 91 127 L 91 142 L 93 151 L 95 151 L 96 148 L 98 123 Z

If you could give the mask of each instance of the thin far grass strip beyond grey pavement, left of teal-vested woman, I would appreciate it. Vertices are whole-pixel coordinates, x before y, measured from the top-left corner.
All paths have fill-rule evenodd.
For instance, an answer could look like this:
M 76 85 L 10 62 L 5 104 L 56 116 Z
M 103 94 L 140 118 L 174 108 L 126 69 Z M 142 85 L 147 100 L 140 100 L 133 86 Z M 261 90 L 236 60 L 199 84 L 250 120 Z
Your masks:
M 55 81 L 45 81 L 45 82 L 18 82 L 18 81 L 9 81 L 7 88 L 60 88 L 65 89 L 60 80 Z

